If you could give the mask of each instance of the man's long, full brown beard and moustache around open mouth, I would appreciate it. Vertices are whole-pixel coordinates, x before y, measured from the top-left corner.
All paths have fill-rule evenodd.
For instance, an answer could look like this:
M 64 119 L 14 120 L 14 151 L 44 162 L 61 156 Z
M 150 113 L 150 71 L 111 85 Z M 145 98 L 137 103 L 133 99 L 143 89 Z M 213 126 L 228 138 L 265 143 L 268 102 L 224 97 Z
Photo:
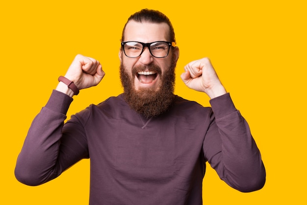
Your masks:
M 176 62 L 173 60 L 170 67 L 162 75 L 161 69 L 158 66 L 138 66 L 132 68 L 132 76 L 130 76 L 123 63 L 121 63 L 120 77 L 124 87 L 125 101 L 133 110 L 143 114 L 146 118 L 156 117 L 166 112 L 175 98 L 175 67 Z M 155 71 L 160 75 L 162 83 L 158 90 L 153 90 L 151 88 L 134 89 L 133 81 L 136 73 L 145 71 L 146 69 Z

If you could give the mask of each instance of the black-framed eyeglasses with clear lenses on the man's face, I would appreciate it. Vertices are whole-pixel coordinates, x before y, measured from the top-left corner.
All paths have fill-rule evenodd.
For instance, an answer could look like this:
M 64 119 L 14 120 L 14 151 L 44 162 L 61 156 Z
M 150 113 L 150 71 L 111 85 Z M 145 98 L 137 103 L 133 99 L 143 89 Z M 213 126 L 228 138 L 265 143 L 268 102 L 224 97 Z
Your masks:
M 140 56 L 145 47 L 147 47 L 150 53 L 156 58 L 164 58 L 168 55 L 170 47 L 175 48 L 175 42 L 167 41 L 155 41 L 152 43 L 142 43 L 137 41 L 122 42 L 122 48 L 124 53 L 129 58 L 136 58 Z

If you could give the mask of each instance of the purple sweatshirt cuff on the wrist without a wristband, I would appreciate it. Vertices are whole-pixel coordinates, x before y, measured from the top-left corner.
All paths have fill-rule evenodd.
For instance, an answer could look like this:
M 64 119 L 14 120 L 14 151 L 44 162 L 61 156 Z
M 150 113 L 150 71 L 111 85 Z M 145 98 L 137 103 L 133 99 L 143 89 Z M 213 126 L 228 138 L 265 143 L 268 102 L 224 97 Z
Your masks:
M 230 93 L 226 93 L 219 97 L 213 98 L 209 102 L 211 104 L 211 108 L 213 110 L 215 118 L 217 119 L 237 111 L 230 98 Z

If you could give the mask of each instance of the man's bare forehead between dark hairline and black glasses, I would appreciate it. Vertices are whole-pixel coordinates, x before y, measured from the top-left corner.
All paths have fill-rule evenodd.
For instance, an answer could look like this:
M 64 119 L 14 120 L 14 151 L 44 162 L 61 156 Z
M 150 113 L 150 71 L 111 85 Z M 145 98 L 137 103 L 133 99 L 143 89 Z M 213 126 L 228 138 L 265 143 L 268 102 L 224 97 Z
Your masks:
M 143 43 L 169 41 L 169 33 L 170 29 L 166 23 L 130 21 L 126 25 L 123 41 L 140 41 Z

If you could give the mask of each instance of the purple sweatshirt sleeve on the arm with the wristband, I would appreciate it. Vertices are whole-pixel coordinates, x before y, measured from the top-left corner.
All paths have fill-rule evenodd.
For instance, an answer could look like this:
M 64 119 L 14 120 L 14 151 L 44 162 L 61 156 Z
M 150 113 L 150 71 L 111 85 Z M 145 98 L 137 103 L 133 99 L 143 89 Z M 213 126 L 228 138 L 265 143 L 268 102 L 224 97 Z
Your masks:
M 22 183 L 45 183 L 78 160 L 88 157 L 82 132 L 78 132 L 76 137 L 70 135 L 77 132 L 62 134 L 66 112 L 72 101 L 69 96 L 54 90 L 46 106 L 34 118 L 15 167 L 15 176 Z

